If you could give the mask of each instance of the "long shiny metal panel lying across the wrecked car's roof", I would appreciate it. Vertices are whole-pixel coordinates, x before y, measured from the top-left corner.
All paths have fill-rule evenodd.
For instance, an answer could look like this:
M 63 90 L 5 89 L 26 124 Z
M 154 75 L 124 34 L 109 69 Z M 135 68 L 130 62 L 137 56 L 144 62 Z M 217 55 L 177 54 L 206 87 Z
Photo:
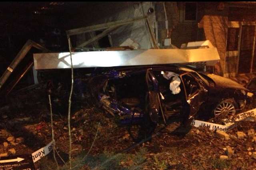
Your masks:
M 205 63 L 214 65 L 220 60 L 216 48 L 206 49 L 146 49 L 132 51 L 88 51 L 72 53 L 74 68 L 155 65 L 173 63 Z M 35 69 L 66 69 L 70 53 L 36 53 Z

